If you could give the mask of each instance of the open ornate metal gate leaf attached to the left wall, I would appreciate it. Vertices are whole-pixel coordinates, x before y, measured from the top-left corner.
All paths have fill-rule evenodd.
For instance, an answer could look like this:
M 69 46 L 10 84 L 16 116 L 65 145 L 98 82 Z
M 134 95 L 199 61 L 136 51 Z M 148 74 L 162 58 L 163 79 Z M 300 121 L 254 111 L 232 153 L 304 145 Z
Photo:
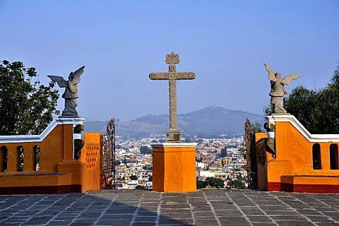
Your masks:
M 107 123 L 106 134 L 102 136 L 100 189 L 115 189 L 115 122 Z

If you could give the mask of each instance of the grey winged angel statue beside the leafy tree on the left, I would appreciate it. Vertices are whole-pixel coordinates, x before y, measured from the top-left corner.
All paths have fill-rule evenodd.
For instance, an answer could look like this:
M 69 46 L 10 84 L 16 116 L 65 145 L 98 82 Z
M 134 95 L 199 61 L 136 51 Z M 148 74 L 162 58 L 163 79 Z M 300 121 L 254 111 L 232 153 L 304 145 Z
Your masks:
M 76 99 L 79 97 L 78 83 L 80 83 L 80 76 L 84 68 L 85 66 L 82 66 L 80 69 L 69 73 L 69 81 L 64 80 L 61 76 L 47 76 L 52 81 L 57 82 L 60 88 L 65 88 L 65 93 L 62 95 L 65 99 L 65 109 L 62 111 L 61 117 L 79 117 L 76 111 L 76 106 L 78 106 Z

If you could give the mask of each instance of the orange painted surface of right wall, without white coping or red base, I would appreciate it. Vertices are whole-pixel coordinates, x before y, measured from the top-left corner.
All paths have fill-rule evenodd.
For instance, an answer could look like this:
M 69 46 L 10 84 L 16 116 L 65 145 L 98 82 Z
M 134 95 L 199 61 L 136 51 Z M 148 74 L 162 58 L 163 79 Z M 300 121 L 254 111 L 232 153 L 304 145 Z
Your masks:
M 259 147 L 258 143 L 260 143 L 259 140 L 264 137 L 262 133 L 256 133 L 257 149 Z M 335 137 L 333 141 L 338 141 L 337 136 L 333 137 Z M 316 141 L 316 139 L 314 140 Z M 321 146 L 321 169 L 313 169 L 312 147 L 314 143 L 319 143 Z M 309 142 L 290 121 L 275 121 L 276 158 L 273 159 L 270 153 L 264 152 L 266 154 L 266 164 L 262 165 L 257 162 L 258 176 L 259 174 L 267 174 L 266 180 L 269 191 L 279 189 L 278 187 L 270 188 L 270 184 L 280 186 L 278 184 L 282 182 L 282 177 L 285 178 L 286 175 L 299 176 L 297 179 L 291 180 L 291 183 L 297 182 L 299 184 L 309 184 L 311 182 L 317 184 L 319 177 L 339 176 L 339 169 L 330 169 L 331 144 L 333 144 L 333 142 L 323 142 L 321 139 L 319 139 L 319 142 Z M 339 143 L 337 144 L 339 145 Z M 259 155 L 260 151 L 257 150 L 257 157 Z M 264 176 L 265 175 L 262 177 Z M 288 181 L 286 178 L 284 179 L 285 182 Z M 322 182 L 323 181 L 325 180 L 322 180 Z M 259 182 L 260 178 L 258 177 L 258 184 Z M 331 182 L 338 184 L 338 179 L 328 180 L 328 183 L 331 184 Z M 259 189 L 262 189 L 262 187 L 264 186 L 261 185 Z

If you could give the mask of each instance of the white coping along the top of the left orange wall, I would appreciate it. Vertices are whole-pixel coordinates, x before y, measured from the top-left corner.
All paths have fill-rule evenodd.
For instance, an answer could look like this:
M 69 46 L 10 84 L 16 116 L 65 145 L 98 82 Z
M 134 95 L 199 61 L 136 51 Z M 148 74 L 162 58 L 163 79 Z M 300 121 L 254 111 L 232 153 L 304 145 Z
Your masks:
M 83 118 L 57 118 L 54 119 L 39 135 L 0 136 L 0 143 L 42 142 L 57 125 L 78 125 L 83 124 L 83 121 L 85 121 Z

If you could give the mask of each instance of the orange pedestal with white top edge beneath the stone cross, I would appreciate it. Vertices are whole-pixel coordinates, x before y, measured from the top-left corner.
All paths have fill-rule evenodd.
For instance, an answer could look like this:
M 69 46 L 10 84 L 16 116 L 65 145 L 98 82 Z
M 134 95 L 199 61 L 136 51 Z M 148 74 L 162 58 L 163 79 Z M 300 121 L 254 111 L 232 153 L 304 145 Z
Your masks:
M 196 191 L 196 143 L 157 143 L 153 148 L 153 191 Z

